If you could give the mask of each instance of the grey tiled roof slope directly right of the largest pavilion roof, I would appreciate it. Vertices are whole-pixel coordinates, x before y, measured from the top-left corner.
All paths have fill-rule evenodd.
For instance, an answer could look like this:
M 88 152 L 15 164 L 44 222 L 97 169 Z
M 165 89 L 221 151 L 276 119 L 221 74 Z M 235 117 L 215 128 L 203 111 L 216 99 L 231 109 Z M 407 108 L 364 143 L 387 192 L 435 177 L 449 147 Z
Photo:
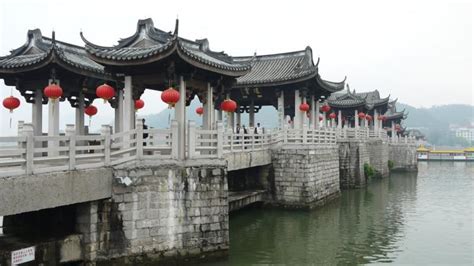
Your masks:
M 252 69 L 237 78 L 237 87 L 249 85 L 275 85 L 286 81 L 315 77 L 311 48 L 302 51 L 261 56 L 234 57 L 234 61 L 251 64 Z

